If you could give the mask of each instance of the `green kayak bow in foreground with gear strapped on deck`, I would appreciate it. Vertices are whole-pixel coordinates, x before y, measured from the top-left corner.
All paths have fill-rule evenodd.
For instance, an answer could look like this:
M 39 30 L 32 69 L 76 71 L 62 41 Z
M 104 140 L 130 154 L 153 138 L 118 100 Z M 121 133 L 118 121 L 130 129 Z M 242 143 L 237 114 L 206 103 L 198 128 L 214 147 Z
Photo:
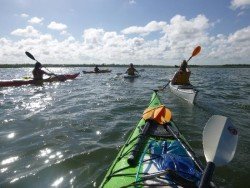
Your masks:
M 203 170 L 154 91 L 100 187 L 197 187 Z

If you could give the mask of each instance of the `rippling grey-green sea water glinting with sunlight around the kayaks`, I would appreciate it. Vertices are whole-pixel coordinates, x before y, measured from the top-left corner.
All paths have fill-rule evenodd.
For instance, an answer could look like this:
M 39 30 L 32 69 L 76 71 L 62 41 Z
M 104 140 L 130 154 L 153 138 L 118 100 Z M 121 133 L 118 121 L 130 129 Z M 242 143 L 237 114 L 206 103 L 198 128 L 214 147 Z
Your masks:
M 92 68 L 50 68 L 75 73 Z M 166 84 L 175 68 L 143 68 L 126 80 L 109 74 L 80 74 L 73 81 L 0 88 L 0 187 L 98 187 L 147 107 L 152 90 Z M 30 68 L 0 69 L 0 79 L 30 76 Z M 250 69 L 192 68 L 199 90 L 190 105 L 160 92 L 162 102 L 199 158 L 202 130 L 214 114 L 238 128 L 234 159 L 217 167 L 219 187 L 250 187 Z

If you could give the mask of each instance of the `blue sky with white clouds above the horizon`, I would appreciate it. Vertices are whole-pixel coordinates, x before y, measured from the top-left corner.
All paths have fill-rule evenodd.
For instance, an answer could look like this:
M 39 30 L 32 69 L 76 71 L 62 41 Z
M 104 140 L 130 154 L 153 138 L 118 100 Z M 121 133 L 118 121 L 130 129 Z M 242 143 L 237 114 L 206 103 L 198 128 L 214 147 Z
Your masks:
M 250 0 L 0 0 L 0 64 L 250 64 Z

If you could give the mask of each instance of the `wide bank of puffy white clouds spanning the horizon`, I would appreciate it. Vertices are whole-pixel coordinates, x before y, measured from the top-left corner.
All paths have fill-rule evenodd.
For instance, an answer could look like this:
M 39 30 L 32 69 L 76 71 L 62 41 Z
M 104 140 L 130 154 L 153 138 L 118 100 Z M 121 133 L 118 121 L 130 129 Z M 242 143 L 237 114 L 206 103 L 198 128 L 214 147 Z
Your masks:
M 25 51 L 39 54 L 44 63 L 128 63 L 174 65 L 188 58 L 194 47 L 202 52 L 191 64 L 248 63 L 250 26 L 223 35 L 209 32 L 216 27 L 205 15 L 187 19 L 175 15 L 168 22 L 150 21 L 144 26 L 131 26 L 122 32 L 102 28 L 83 30 L 82 39 L 67 35 L 56 37 L 27 26 L 11 32 L 18 40 L 0 38 L 0 63 L 29 62 Z M 146 34 L 155 32 L 151 39 Z M 129 35 L 133 34 L 133 35 Z M 70 51 L 70 53 L 68 53 Z M 23 58 L 23 59 L 22 59 Z M 32 62 L 29 62 L 32 63 Z

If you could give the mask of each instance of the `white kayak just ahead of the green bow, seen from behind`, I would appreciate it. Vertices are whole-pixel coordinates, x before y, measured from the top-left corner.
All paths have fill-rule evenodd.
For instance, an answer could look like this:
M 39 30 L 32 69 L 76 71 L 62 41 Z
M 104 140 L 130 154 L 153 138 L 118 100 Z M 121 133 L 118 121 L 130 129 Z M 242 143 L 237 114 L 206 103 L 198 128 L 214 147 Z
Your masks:
M 195 102 L 198 94 L 198 91 L 192 85 L 173 85 L 170 81 L 169 88 L 175 95 L 191 104 Z

